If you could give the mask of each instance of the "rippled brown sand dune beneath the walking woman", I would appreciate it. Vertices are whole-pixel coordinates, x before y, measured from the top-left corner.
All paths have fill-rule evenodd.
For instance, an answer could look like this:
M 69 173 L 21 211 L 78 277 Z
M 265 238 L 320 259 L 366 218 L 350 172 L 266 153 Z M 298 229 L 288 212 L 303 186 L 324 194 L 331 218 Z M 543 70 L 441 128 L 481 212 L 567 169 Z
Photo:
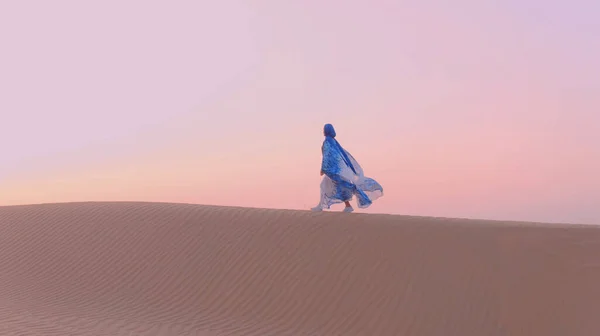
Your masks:
M 600 228 L 0 207 L 0 335 L 600 335 Z

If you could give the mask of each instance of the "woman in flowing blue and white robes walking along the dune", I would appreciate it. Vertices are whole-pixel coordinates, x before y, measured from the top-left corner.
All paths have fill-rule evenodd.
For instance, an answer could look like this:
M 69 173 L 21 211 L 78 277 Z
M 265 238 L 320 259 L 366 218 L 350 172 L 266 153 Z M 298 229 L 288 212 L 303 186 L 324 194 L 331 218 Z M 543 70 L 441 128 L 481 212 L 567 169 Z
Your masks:
M 383 188 L 377 181 L 365 177 L 358 162 L 335 139 L 333 125 L 325 125 L 323 133 L 325 141 L 321 147 L 321 176 L 325 176 L 321 182 L 321 200 L 312 210 L 322 211 L 333 204 L 345 203 L 344 212 L 352 212 L 354 209 L 350 201 L 353 196 L 356 196 L 359 208 L 369 207 L 374 200 L 383 196 Z

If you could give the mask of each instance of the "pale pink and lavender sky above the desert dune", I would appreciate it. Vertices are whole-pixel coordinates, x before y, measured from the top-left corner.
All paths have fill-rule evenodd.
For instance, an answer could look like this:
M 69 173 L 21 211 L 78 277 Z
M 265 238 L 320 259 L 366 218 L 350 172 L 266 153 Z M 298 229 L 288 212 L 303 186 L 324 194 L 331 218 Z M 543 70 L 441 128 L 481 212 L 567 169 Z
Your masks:
M 600 224 L 600 3 L 0 3 L 0 205 L 307 209 L 321 129 L 367 212 Z

